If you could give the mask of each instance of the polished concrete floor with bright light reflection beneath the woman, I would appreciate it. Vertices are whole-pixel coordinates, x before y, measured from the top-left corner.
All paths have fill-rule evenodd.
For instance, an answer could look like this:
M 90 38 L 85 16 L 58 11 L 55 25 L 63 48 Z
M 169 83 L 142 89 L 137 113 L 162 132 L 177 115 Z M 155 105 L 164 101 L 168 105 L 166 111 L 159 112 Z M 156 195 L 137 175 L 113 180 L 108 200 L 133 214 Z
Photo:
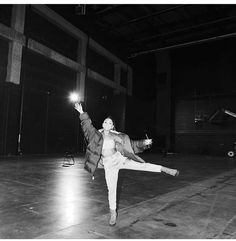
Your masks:
M 95 180 L 83 157 L 0 159 L 1 239 L 236 238 L 236 161 L 146 153 L 179 177 L 122 170 L 118 220 L 108 225 L 104 171 Z

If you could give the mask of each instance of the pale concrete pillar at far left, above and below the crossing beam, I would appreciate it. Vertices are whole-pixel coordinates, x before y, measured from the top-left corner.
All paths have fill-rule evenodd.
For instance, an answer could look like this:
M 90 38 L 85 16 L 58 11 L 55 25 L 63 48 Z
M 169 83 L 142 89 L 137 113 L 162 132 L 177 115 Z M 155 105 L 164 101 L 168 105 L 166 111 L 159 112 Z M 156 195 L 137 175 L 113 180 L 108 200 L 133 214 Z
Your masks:
M 11 27 L 16 31 L 23 33 L 24 25 L 25 5 L 13 5 Z M 20 84 L 22 48 L 23 46 L 16 41 L 9 43 L 6 82 Z

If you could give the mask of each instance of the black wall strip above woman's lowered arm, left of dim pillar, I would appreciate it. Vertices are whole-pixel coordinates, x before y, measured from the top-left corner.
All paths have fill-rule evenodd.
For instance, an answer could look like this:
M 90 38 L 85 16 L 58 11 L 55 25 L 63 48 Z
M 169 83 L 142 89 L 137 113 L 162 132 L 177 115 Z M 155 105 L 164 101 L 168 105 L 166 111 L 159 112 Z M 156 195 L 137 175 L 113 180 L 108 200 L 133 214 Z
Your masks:
M 154 139 L 156 129 L 156 60 L 154 55 L 131 59 L 133 68 L 133 95 L 127 97 L 125 131 L 134 139 Z

